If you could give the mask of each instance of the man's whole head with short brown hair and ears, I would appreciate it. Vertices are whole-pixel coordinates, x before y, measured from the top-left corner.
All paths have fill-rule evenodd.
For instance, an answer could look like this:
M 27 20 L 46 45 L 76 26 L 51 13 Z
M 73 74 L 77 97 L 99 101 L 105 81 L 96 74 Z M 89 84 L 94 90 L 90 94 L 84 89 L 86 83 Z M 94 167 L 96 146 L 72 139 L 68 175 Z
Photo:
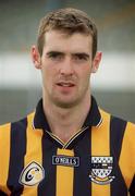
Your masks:
M 89 79 L 101 52 L 96 26 L 84 12 L 62 9 L 44 17 L 32 57 L 41 70 L 44 99 L 51 106 L 72 108 L 89 100 Z

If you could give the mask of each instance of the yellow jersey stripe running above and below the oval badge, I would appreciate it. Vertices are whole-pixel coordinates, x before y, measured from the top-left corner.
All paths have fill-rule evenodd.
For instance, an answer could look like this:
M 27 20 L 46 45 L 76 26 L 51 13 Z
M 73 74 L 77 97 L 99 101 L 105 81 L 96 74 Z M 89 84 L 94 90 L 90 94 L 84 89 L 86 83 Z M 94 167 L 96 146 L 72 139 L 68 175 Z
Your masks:
M 42 138 L 42 130 L 33 130 L 33 114 L 30 114 L 27 119 L 27 145 L 26 145 L 26 156 L 24 159 L 24 168 L 26 168 L 32 162 L 36 162 L 39 166 L 42 166 L 42 149 L 41 149 L 41 138 Z M 32 187 L 24 186 L 23 196 L 27 195 L 37 195 L 37 185 Z

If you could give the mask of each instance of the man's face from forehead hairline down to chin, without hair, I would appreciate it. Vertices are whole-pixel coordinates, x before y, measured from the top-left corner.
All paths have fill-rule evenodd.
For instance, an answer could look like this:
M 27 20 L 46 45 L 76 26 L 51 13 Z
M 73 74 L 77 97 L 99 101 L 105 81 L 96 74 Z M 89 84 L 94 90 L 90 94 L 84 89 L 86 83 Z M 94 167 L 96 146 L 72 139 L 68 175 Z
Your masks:
M 61 108 L 86 100 L 90 73 L 97 68 L 91 59 L 91 41 L 90 35 L 79 33 L 46 33 L 42 56 L 36 64 L 41 70 L 45 99 Z

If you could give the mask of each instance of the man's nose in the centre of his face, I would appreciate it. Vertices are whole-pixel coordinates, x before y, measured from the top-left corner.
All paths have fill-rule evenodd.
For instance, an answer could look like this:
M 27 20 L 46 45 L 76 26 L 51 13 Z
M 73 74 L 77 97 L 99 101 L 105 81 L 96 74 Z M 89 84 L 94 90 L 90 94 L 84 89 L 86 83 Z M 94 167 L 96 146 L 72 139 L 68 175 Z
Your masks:
M 74 68 L 73 68 L 72 59 L 65 58 L 64 61 L 61 63 L 60 74 L 73 75 L 73 73 L 74 73 Z

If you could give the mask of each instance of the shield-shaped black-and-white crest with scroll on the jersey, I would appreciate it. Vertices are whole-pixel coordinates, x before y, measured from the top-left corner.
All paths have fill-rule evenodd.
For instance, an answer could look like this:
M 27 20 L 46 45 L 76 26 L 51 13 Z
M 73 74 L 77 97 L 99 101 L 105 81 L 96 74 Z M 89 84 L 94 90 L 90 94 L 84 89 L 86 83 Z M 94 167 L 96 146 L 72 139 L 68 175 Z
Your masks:
M 109 184 L 114 180 L 111 175 L 113 157 L 91 157 L 91 182 L 100 185 Z

